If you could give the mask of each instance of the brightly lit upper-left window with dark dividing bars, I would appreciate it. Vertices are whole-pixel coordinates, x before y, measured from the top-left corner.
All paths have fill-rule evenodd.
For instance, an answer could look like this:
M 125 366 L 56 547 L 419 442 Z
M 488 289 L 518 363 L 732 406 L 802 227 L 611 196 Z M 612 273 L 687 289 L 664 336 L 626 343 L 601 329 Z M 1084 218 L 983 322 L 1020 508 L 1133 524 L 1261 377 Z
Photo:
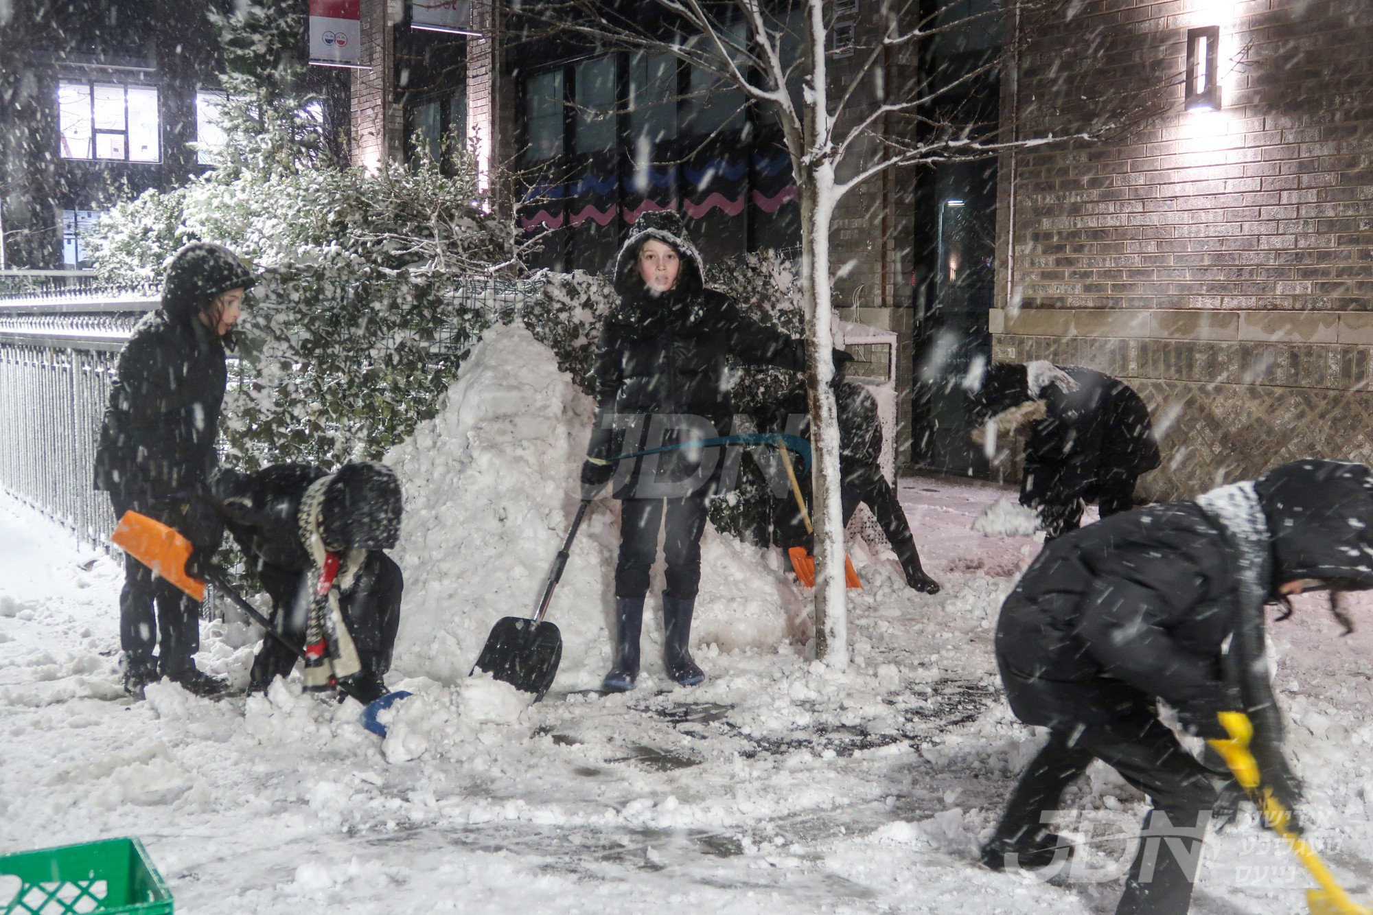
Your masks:
M 158 91 L 152 87 L 60 82 L 58 129 L 65 159 L 162 158 Z

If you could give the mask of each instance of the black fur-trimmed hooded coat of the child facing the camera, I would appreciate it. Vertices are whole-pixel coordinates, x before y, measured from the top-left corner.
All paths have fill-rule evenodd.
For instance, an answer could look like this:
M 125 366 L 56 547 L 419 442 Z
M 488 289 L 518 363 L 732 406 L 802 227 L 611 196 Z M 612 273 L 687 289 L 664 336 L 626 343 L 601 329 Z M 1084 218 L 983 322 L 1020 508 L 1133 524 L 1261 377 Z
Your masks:
M 681 257 L 677 284 L 667 293 L 648 291 L 638 275 L 638 249 L 647 239 L 671 245 Z M 726 434 L 733 418 L 728 363 L 777 365 L 802 371 L 805 343 L 743 313 L 724 293 L 704 289 L 703 265 L 686 239 L 681 216 L 671 210 L 644 213 L 621 247 L 615 265 L 619 304 L 607 316 L 596 345 L 592 371 L 597 404 L 590 458 L 671 444 L 695 431 L 669 433 L 649 441 L 652 416 L 699 416 Z M 632 425 L 640 418 L 637 425 Z M 637 430 L 629 433 L 625 426 Z M 619 426 L 618 429 L 615 426 Z M 632 441 L 630 441 L 632 440 Z M 616 497 L 633 496 L 641 462 L 616 477 Z M 669 452 L 658 460 L 660 478 L 689 478 L 700 455 Z

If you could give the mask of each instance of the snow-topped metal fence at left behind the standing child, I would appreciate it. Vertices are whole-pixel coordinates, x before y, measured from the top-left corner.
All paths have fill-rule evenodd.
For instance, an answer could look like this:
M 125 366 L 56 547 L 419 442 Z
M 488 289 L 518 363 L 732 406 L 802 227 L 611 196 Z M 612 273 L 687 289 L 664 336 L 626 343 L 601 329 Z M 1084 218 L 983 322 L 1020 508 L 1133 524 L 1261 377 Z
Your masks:
M 158 306 L 148 290 L 45 290 L 0 298 L 0 489 L 104 547 L 114 512 L 92 489 L 115 359 Z

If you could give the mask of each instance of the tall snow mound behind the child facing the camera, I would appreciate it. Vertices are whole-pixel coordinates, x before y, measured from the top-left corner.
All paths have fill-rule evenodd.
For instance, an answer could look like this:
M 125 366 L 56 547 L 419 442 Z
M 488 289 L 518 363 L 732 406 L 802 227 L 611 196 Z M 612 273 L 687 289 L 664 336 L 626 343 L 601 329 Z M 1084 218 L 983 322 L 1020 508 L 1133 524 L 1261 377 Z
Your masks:
M 523 327 L 494 327 L 439 414 L 387 455 L 405 493 L 394 552 L 405 573 L 397 673 L 454 684 L 497 620 L 533 615 L 577 512 L 593 412 L 552 350 Z M 610 666 L 618 514 L 604 493 L 593 503 L 553 596 L 559 688 L 596 687 Z M 696 651 L 774 650 L 807 637 L 800 596 L 776 556 L 707 526 L 702 572 Z M 651 676 L 662 676 L 660 589 L 659 567 L 644 621 Z

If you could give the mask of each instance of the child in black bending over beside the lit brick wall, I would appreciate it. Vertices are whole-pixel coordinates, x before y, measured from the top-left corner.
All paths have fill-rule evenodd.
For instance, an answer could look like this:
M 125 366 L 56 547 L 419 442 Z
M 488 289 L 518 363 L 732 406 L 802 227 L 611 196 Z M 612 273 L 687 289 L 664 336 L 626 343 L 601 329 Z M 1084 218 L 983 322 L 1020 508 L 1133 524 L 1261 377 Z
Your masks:
M 995 363 L 973 412 L 998 434 L 1028 431 L 1020 504 L 1039 512 L 1050 540 L 1078 529 L 1083 503 L 1098 503 L 1103 518 L 1134 508 L 1135 482 L 1160 463 L 1148 407 L 1090 368 Z

